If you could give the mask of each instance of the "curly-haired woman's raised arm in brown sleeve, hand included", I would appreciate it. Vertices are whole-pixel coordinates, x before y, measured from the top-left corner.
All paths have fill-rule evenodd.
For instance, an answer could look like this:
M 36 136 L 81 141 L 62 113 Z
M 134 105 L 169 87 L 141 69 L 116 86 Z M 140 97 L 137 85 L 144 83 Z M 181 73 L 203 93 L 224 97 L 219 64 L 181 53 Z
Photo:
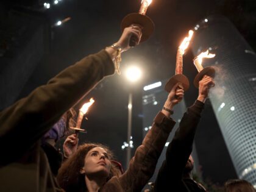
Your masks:
M 154 174 L 157 160 L 165 146 L 169 133 L 175 121 L 169 118 L 172 107 L 183 98 L 183 90 L 177 89 L 178 84 L 172 89 L 165 102 L 165 109 L 155 116 L 152 128 L 146 134 L 141 146 L 130 160 L 129 168 L 119 179 L 126 191 L 140 191 Z

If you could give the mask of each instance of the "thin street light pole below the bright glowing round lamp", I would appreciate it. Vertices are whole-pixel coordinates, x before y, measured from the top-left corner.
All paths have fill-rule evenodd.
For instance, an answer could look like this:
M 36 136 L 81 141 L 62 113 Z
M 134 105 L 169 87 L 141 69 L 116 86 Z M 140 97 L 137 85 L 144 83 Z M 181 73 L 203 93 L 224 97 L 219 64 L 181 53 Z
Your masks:
M 126 154 L 126 168 L 129 166 L 132 149 L 130 147 L 130 137 L 132 137 L 132 92 L 129 93 L 128 98 L 128 127 L 127 127 L 127 154 Z

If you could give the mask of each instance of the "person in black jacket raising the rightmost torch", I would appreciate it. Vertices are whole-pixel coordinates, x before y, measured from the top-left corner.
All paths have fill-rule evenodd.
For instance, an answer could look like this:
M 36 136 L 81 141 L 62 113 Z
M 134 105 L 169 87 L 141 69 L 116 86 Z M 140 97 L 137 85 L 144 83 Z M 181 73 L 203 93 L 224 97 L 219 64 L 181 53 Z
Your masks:
M 166 160 L 158 171 L 157 179 L 155 180 L 155 192 L 205 191 L 201 184 L 192 179 L 193 158 L 190 154 L 200 114 L 212 85 L 214 85 L 213 79 L 208 76 L 204 76 L 199 82 L 197 100 L 184 113 L 179 128 L 168 145 Z

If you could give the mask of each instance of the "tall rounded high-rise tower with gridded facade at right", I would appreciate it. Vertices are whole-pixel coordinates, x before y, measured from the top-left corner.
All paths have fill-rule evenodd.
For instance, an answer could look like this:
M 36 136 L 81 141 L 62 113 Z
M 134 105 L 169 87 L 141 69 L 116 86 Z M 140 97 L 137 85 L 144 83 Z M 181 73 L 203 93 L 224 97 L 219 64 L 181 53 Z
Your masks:
M 256 54 L 223 16 L 204 18 L 194 29 L 194 55 L 216 54 L 202 65 L 216 69 L 210 100 L 236 173 L 256 187 Z

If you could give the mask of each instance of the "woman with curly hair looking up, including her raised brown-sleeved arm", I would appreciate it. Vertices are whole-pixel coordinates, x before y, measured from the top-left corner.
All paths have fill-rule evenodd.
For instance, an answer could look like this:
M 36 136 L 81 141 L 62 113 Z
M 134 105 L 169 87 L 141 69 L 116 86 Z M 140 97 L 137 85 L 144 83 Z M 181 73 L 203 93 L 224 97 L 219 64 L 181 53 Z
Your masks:
M 183 98 L 183 89 L 178 86 L 172 88 L 124 174 L 117 176 L 108 148 L 100 144 L 84 144 L 59 169 L 60 187 L 66 192 L 141 191 L 154 174 L 158 157 L 175 125 L 169 116 L 174 105 Z

